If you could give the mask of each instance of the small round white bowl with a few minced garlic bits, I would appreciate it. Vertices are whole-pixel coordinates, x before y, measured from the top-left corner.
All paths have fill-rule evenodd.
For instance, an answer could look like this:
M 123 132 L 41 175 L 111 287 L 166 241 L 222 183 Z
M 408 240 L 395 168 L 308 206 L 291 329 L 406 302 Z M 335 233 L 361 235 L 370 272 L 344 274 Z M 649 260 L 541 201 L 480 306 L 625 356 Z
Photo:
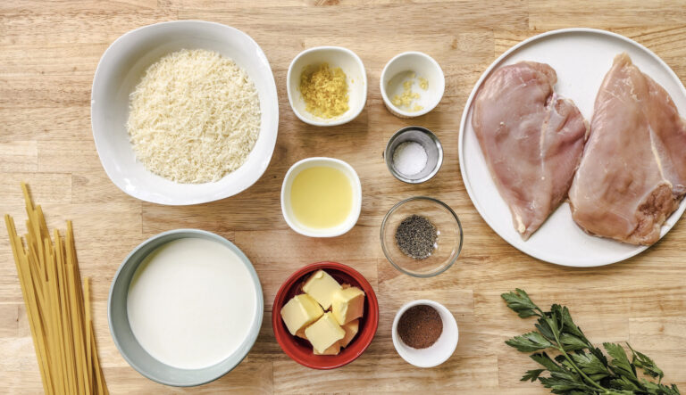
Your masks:
M 398 108 L 390 101 L 390 97 L 403 94 L 403 81 L 408 74 L 414 73 L 415 79 L 420 77 L 429 81 L 426 90 L 415 83 L 413 92 L 420 95 L 415 103 L 422 106 L 420 111 L 407 111 Z M 426 114 L 436 108 L 446 89 L 446 78 L 439 63 L 431 56 L 421 52 L 404 52 L 393 57 L 381 71 L 381 96 L 386 108 L 399 118 L 414 118 Z

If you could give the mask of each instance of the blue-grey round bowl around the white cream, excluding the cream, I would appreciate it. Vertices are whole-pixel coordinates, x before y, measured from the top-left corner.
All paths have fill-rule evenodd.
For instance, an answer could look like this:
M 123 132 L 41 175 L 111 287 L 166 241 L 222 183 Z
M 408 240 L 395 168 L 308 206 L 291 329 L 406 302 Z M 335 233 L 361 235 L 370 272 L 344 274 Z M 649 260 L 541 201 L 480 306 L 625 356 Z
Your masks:
M 250 276 L 253 279 L 255 286 L 255 316 L 250 325 L 250 330 L 247 333 L 243 342 L 241 342 L 238 350 L 236 350 L 229 357 L 223 359 L 221 362 L 213 366 L 207 366 L 200 369 L 180 369 L 178 367 L 163 364 L 159 360 L 153 358 L 146 350 L 141 347 L 136 339 L 136 336 L 131 332 L 129 324 L 129 316 L 127 311 L 127 295 L 129 293 L 129 285 L 133 275 L 136 273 L 138 265 L 146 259 L 146 256 L 155 251 L 164 243 L 188 238 L 199 237 L 205 240 L 210 240 L 229 247 L 229 249 L 238 255 L 238 258 L 246 265 Z M 238 366 L 243 358 L 246 358 L 248 351 L 252 349 L 257 334 L 260 332 L 262 325 L 262 318 L 264 316 L 264 297 L 262 294 L 262 285 L 255 272 L 255 267 L 247 259 L 247 256 L 240 251 L 238 247 L 226 240 L 220 235 L 215 235 L 211 232 L 198 229 L 176 229 L 168 232 L 163 232 L 155 235 L 145 242 L 140 243 L 129 256 L 123 260 L 119 270 L 112 282 L 110 288 L 110 296 L 107 301 L 107 318 L 110 324 L 110 333 L 114 344 L 121 352 L 121 356 L 126 359 L 130 366 L 143 374 L 150 380 L 165 385 L 175 387 L 191 387 L 212 382 L 222 375 L 229 373 L 234 367 Z

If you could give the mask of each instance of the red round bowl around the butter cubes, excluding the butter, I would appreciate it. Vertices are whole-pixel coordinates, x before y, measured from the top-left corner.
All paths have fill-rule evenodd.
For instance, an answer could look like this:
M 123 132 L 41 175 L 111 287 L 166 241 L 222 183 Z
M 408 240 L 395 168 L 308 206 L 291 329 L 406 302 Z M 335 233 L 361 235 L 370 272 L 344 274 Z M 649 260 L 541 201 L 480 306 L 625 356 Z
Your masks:
M 310 342 L 291 335 L 283 323 L 283 319 L 281 319 L 283 305 L 298 293 L 303 293 L 302 286 L 305 280 L 319 269 L 329 273 L 340 284 L 347 283 L 364 291 L 364 316 L 360 318 L 360 329 L 350 344 L 345 349 L 340 350 L 339 355 L 314 355 Z M 362 355 L 364 350 L 367 350 L 378 326 L 379 302 L 376 300 L 372 285 L 354 268 L 340 263 L 319 262 L 300 268 L 281 285 L 279 292 L 276 292 L 276 298 L 274 298 L 272 327 L 276 341 L 279 342 L 281 350 L 290 358 L 293 358 L 300 365 L 313 369 L 335 369 L 354 361 Z

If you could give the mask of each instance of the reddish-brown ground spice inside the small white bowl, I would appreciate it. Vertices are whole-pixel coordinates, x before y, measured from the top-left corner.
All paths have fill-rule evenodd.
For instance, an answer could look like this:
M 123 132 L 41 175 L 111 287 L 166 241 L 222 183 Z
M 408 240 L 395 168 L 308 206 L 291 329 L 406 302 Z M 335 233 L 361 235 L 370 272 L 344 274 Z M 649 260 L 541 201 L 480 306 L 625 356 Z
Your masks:
M 397 334 L 413 349 L 426 349 L 439 340 L 443 320 L 436 309 L 420 304 L 406 309 L 397 322 Z

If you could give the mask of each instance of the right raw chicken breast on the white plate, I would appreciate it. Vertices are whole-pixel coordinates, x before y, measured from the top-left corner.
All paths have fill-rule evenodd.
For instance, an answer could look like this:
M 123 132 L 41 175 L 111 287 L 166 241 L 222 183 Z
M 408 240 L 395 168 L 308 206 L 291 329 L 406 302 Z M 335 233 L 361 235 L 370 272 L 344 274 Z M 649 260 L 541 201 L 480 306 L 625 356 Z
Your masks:
M 569 198 L 591 235 L 649 245 L 686 193 L 686 122 L 626 53 L 596 96 L 589 142 Z

